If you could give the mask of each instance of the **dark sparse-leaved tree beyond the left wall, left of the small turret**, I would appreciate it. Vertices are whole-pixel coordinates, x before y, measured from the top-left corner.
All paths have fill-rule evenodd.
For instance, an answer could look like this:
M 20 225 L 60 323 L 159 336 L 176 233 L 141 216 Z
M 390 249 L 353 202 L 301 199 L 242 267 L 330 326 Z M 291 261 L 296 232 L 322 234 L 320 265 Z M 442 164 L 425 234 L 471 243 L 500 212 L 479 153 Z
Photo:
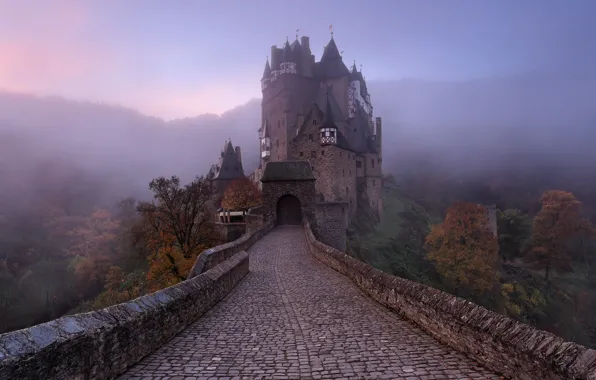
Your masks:
M 206 242 L 213 241 L 213 193 L 209 178 L 197 177 L 182 187 L 178 177 L 159 177 L 151 181 L 149 188 L 153 191 L 153 202 L 142 202 L 137 208 L 148 227 L 145 231 L 148 236 L 171 237 L 171 244 L 187 259 L 196 256 L 197 249 Z

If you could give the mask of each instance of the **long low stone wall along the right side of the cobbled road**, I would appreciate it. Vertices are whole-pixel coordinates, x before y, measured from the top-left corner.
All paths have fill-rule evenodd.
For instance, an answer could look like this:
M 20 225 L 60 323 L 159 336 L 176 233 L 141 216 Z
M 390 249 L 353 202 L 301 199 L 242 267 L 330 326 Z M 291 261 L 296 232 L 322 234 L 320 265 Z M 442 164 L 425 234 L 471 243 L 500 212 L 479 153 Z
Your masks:
M 451 294 L 391 276 L 305 233 L 311 254 L 439 341 L 514 379 L 596 379 L 596 350 Z

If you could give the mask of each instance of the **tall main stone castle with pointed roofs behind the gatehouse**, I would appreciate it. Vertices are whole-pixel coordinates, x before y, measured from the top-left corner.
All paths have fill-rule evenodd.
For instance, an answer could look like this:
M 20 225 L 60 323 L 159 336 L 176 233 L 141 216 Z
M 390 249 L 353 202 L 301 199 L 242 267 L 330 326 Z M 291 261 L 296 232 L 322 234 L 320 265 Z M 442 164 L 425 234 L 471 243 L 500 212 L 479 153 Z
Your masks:
M 348 69 L 333 35 L 319 62 L 309 37 L 271 47 L 261 79 L 263 92 L 259 181 L 265 165 L 308 161 L 318 202 L 345 203 L 352 219 L 367 206 L 382 210 L 382 124 L 373 117 L 366 82 L 356 64 Z

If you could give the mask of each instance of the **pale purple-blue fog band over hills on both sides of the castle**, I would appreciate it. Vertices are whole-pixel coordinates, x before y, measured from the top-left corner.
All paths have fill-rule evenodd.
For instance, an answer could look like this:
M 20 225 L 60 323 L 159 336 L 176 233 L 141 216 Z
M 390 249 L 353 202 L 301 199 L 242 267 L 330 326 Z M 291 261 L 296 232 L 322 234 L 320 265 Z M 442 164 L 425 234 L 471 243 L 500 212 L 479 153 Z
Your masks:
M 369 89 L 375 114 L 383 117 L 386 174 L 420 160 L 460 174 L 512 163 L 581 168 L 584 174 L 596 166 L 593 78 L 532 73 L 465 82 L 409 79 L 371 82 Z M 230 137 L 242 147 L 249 174 L 258 165 L 259 124 L 257 99 L 221 116 L 166 122 L 121 106 L 1 93 L 3 183 L 31 181 L 40 165 L 53 162 L 97 183 L 106 200 L 146 198 L 156 176 L 187 181 L 204 174 Z M 22 196 L 3 186 L 4 201 Z

